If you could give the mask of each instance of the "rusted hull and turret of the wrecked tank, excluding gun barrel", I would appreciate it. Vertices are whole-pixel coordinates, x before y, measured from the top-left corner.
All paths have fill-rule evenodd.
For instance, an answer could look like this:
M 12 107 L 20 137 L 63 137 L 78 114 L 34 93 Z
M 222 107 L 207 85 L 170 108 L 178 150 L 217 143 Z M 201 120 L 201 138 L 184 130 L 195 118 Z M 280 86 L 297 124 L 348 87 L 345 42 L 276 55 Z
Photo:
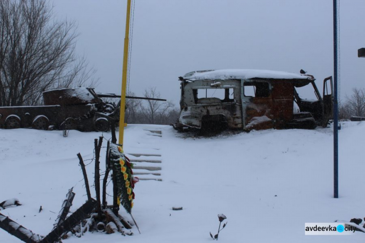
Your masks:
M 105 103 L 101 97 L 87 87 L 48 90 L 43 92 L 44 105 L 0 107 L 0 128 L 104 132 L 118 121 L 119 105 Z

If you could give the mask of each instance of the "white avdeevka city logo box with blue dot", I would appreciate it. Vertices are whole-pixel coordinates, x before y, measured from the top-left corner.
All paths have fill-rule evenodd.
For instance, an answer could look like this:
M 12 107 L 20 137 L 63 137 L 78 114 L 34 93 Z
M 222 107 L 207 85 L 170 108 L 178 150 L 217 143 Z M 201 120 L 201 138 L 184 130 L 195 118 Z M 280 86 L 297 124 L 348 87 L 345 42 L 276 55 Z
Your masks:
M 306 223 L 306 235 L 351 235 L 356 231 L 355 226 L 338 223 Z

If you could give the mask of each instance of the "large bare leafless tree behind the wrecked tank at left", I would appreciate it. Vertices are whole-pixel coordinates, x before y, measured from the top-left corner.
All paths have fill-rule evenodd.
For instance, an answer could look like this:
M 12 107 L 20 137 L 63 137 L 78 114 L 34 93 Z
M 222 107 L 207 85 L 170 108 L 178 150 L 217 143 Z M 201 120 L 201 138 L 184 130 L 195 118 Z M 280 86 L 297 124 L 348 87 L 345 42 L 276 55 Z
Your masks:
M 74 54 L 75 22 L 58 21 L 46 0 L 0 0 L 0 105 L 37 104 L 42 91 L 90 79 Z

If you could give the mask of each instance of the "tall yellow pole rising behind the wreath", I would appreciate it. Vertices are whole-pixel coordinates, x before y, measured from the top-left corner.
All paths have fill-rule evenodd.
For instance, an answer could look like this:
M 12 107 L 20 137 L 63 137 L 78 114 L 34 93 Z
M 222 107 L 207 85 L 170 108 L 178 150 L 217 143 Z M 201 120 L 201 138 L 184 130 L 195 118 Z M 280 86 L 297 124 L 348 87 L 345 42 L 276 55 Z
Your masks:
M 120 98 L 120 116 L 119 116 L 119 140 L 118 140 L 118 143 L 122 144 L 122 146 L 123 146 L 123 135 L 124 135 L 124 119 L 125 119 L 125 113 L 126 113 L 130 1 L 131 0 L 127 0 L 126 36 L 124 37 L 122 92 L 121 92 L 122 95 L 121 95 L 121 98 Z

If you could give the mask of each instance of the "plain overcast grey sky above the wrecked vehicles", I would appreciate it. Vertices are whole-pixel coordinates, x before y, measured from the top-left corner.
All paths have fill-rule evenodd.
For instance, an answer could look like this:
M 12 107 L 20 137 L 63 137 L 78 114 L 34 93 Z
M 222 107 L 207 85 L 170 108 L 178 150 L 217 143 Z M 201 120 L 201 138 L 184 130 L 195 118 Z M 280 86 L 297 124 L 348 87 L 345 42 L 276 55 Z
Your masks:
M 134 2 L 134 0 L 133 0 Z M 77 52 L 96 69 L 98 92 L 120 94 L 127 0 L 53 0 L 78 23 Z M 365 0 L 339 0 L 341 99 L 365 87 Z M 129 89 L 157 87 L 178 105 L 178 76 L 203 69 L 333 75 L 332 0 L 135 0 Z

